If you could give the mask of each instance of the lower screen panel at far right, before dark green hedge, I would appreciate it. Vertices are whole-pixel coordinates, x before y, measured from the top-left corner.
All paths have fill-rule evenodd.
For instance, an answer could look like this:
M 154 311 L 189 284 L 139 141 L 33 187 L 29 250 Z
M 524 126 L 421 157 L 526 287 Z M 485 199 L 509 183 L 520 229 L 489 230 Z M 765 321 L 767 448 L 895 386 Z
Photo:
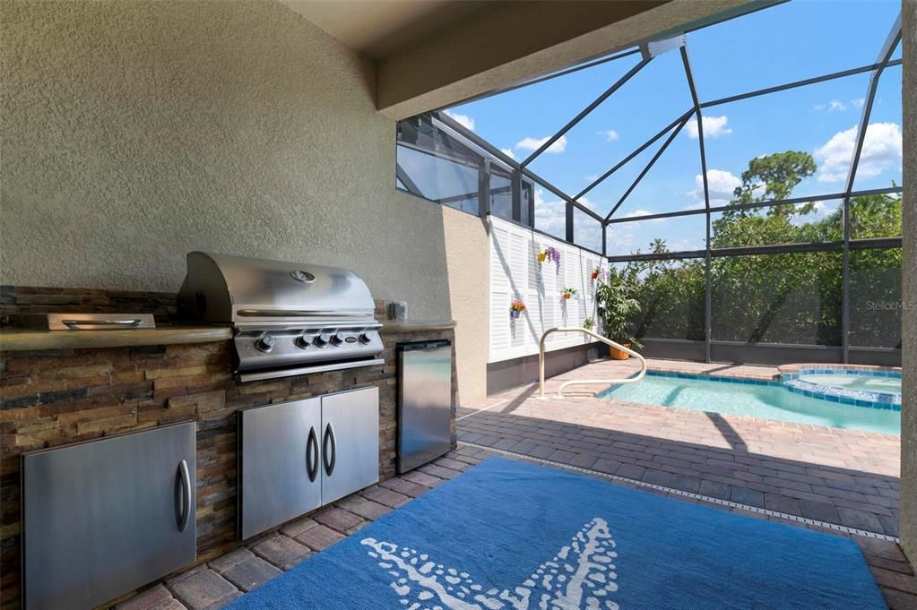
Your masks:
M 901 249 L 852 251 L 849 290 L 850 344 L 900 348 Z

